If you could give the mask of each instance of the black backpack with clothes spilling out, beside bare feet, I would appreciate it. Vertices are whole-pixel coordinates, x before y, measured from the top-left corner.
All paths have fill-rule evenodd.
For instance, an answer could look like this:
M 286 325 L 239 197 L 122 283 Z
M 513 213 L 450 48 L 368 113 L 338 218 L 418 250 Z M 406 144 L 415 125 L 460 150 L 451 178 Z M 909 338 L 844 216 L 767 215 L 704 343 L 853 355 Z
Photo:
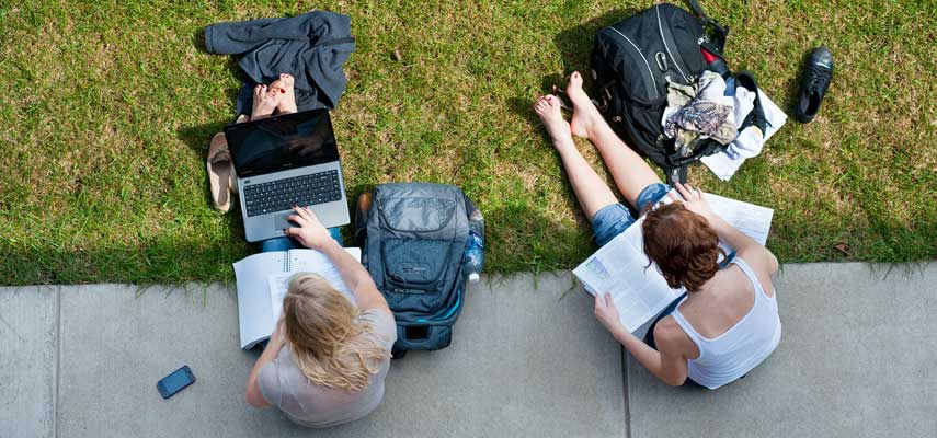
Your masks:
M 699 18 L 664 3 L 603 28 L 591 60 L 595 105 L 628 146 L 664 169 L 667 183 L 686 182 L 690 163 L 725 148 L 707 139 L 681 153 L 661 127 L 667 105 L 665 78 L 695 83 L 708 68 L 701 48 L 724 62 L 729 30 L 708 18 L 695 0 L 688 2 Z

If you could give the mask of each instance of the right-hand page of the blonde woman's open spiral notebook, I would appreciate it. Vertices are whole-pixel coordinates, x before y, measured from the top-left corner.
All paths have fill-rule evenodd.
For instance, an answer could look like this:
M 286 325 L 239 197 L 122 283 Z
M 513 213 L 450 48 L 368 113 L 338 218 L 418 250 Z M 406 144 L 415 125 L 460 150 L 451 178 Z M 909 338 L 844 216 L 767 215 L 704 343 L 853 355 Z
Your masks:
M 362 251 L 357 247 L 346 247 L 345 252 L 356 261 L 361 261 Z M 270 306 L 273 310 L 273 321 L 279 321 L 283 315 L 283 298 L 289 287 L 289 280 L 298 273 L 316 273 L 328 280 L 339 292 L 351 302 L 355 302 L 355 296 L 348 290 L 342 275 L 329 257 L 316 250 L 289 250 L 289 272 L 277 273 L 267 277 L 270 290 Z

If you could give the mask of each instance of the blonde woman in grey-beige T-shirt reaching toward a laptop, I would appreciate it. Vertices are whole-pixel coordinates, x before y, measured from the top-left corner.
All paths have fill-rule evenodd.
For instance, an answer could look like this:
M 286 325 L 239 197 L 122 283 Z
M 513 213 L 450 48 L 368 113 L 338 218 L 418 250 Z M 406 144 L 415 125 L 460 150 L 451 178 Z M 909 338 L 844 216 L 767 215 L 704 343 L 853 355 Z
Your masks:
M 346 253 L 309 209 L 295 207 L 284 230 L 335 265 L 357 304 L 322 277 L 297 274 L 283 300 L 283 319 L 248 378 L 248 403 L 276 406 L 306 427 L 358 419 L 377 407 L 397 341 L 393 315 L 367 270 Z

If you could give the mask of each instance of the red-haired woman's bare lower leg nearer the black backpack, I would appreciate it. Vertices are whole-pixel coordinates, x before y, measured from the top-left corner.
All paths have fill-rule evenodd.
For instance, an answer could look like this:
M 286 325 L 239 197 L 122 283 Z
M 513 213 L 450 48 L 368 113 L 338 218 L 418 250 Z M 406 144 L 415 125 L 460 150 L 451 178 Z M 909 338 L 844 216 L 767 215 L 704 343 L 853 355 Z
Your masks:
M 572 134 L 589 138 L 595 145 L 602 159 L 605 160 L 605 165 L 612 172 L 618 191 L 636 209 L 639 208 L 638 195 L 644 187 L 661 183 L 661 178 L 640 155 L 618 138 L 608 123 L 602 118 L 598 108 L 582 90 L 582 76 L 578 71 L 570 77 L 567 94 L 572 100 L 574 108 L 570 124 Z

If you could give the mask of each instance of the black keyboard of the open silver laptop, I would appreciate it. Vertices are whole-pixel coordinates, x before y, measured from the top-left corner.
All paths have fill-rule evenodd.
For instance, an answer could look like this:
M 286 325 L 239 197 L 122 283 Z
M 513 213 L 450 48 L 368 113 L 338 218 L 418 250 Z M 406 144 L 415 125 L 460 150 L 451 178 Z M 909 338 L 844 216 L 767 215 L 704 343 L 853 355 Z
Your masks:
M 342 198 L 339 171 L 325 171 L 244 187 L 248 217 L 311 206 Z

